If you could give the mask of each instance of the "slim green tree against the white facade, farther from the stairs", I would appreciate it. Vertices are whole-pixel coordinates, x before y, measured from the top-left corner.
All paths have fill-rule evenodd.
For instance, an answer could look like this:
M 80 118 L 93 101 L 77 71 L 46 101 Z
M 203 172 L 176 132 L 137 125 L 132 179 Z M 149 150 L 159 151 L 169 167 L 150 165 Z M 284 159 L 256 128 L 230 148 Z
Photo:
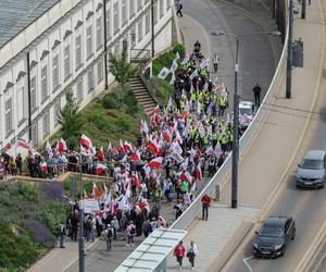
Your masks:
M 62 137 L 67 139 L 68 148 L 74 148 L 80 136 L 83 120 L 78 112 L 79 106 L 71 90 L 66 92 L 65 99 L 66 104 L 60 110 L 58 122 L 62 126 Z

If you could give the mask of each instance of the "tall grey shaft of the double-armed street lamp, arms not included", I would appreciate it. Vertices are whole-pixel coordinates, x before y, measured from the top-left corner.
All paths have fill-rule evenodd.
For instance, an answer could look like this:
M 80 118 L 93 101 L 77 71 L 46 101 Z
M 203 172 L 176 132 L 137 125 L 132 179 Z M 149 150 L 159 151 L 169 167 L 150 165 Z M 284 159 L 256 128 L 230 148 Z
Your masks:
M 238 96 L 238 72 L 239 72 L 239 37 L 237 39 L 236 63 L 235 63 L 235 91 L 234 91 L 234 141 L 233 141 L 233 174 L 231 174 L 231 208 L 238 207 L 238 162 L 239 162 L 239 96 Z

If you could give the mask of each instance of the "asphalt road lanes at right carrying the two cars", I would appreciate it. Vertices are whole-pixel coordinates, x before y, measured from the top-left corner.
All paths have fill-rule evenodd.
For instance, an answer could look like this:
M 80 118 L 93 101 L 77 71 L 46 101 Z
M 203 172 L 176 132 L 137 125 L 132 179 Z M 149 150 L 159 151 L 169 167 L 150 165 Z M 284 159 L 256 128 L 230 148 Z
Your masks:
M 325 22 L 323 21 L 323 14 L 321 11 L 326 11 L 326 2 L 319 1 L 319 3 L 321 4 L 318 5 L 317 1 L 315 2 L 314 8 L 311 8 L 310 15 L 306 20 L 314 24 L 316 33 L 318 33 L 322 27 L 322 32 L 324 33 L 323 42 L 325 44 Z M 300 25 L 300 23 L 298 24 Z M 316 41 L 316 45 L 318 46 L 318 40 Z M 296 239 L 287 247 L 287 252 L 284 258 L 274 260 L 255 258 L 247 259 L 252 257 L 251 249 L 254 234 L 251 233 L 229 260 L 225 267 L 225 271 L 294 271 L 326 220 L 326 189 L 297 189 L 294 185 L 297 164 L 300 163 L 300 160 L 306 150 L 326 149 L 326 78 L 324 73 L 326 69 L 326 60 L 323 54 L 319 55 L 319 59 L 322 61 L 322 67 L 317 65 L 308 67 L 314 70 L 322 69 L 323 74 L 318 86 L 318 92 L 315 100 L 316 102 L 314 103 L 313 113 L 310 116 L 305 136 L 298 149 L 296 159 L 292 161 L 286 178 L 283 180 L 283 183 L 277 190 L 277 195 L 272 202 L 271 209 L 267 212 L 267 214 L 274 215 L 292 215 L 297 224 Z M 304 74 L 302 74 L 302 76 L 304 76 Z M 299 112 L 300 110 L 293 110 L 292 113 L 299 115 Z M 276 151 L 280 152 L 280 150 Z M 255 198 L 255 194 L 252 194 L 252 198 Z M 247 259 L 247 263 L 243 262 L 243 259 Z

